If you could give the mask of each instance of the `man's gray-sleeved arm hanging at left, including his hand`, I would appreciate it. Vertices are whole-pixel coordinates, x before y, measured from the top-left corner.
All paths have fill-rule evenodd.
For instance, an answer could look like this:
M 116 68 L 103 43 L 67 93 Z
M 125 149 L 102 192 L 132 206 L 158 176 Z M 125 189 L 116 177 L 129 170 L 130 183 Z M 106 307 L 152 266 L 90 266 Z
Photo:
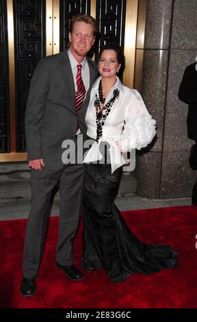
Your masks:
M 49 75 L 49 64 L 47 60 L 40 60 L 31 79 L 27 108 L 25 111 L 27 158 L 30 162 L 36 160 L 35 166 L 29 162 L 29 165 L 34 169 L 39 169 L 38 163 L 41 162 L 38 162 L 38 160 L 42 160 L 40 127 L 49 92 Z M 42 163 L 44 164 L 43 160 Z

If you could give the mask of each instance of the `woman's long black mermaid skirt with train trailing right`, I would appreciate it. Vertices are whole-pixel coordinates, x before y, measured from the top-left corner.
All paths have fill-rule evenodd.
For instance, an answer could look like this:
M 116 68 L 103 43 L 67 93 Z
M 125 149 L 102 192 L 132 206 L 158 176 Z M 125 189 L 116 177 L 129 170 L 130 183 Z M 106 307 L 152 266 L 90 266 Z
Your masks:
M 86 166 L 83 266 L 103 267 L 113 282 L 176 267 L 178 253 L 171 246 L 144 244 L 127 227 L 114 203 L 121 176 L 122 167 L 111 174 L 111 164 Z

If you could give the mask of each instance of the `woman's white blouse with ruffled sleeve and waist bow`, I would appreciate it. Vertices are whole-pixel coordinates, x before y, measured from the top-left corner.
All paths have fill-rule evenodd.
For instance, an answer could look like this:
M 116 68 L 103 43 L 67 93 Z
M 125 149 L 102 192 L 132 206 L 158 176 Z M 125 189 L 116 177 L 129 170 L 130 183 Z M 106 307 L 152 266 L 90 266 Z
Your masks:
M 152 119 L 144 101 L 137 90 L 123 86 L 120 79 L 116 77 L 116 84 L 111 88 L 106 97 L 105 104 L 113 97 L 115 88 L 120 90 L 119 97 L 111 106 L 111 111 L 103 125 L 103 136 L 96 141 L 86 154 L 84 163 L 101 160 L 99 151 L 101 141 L 110 145 L 111 173 L 125 164 L 120 151 L 131 151 L 142 149 L 153 140 L 156 134 L 155 120 Z M 101 76 L 96 79 L 90 93 L 90 103 L 86 113 L 86 124 L 88 136 L 96 139 L 96 109 L 94 107 L 95 93 L 99 96 L 99 82 Z M 124 127 L 124 129 L 123 129 Z M 122 131 L 123 129 L 123 131 Z M 118 146 L 117 143 L 119 143 Z

